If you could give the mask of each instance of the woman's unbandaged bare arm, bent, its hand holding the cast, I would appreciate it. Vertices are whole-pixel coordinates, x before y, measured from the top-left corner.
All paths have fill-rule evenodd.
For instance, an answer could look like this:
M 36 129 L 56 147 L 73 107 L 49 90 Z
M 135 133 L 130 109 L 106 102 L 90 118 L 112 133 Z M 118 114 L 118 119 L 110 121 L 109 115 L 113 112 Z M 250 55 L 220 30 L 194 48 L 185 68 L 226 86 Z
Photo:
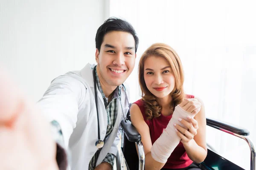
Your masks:
M 198 99 L 198 101 L 201 103 L 201 110 L 195 115 L 195 118 L 190 119 L 190 122 L 184 119 L 180 121 L 189 128 L 189 131 L 184 128 L 182 129 L 179 125 L 176 125 L 176 128 L 179 130 L 177 133 L 181 138 L 180 142 L 183 143 L 189 158 L 192 161 L 200 163 L 204 161 L 207 156 L 207 144 L 204 104 L 200 99 Z M 185 136 L 183 134 L 185 134 Z

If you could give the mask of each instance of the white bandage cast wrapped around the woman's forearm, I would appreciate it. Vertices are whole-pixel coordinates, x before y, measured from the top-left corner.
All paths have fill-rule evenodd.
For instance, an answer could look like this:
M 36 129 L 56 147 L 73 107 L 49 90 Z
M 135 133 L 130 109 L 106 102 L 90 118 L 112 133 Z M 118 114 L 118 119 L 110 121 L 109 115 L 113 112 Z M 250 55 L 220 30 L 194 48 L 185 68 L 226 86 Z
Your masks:
M 174 123 L 186 128 L 178 121 L 179 118 L 188 120 L 187 116 L 194 118 L 194 114 L 184 111 L 179 105 L 175 107 L 172 119 L 169 121 L 166 129 L 163 130 L 161 136 L 154 142 L 151 147 L 151 156 L 160 163 L 166 163 L 171 153 L 180 143 L 180 137 L 175 131 Z

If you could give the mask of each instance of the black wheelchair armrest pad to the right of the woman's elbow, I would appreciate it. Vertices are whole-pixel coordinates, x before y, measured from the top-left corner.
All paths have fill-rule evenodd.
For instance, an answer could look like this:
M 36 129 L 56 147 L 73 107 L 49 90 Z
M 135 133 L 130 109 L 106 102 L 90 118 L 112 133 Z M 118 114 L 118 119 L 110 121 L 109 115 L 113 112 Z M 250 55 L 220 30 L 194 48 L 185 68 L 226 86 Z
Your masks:
M 244 127 L 233 125 L 228 122 L 206 118 L 206 124 L 210 127 L 214 127 L 215 129 L 227 130 L 229 132 L 236 133 L 238 135 L 242 135 L 242 136 L 250 135 L 249 130 L 245 129 Z

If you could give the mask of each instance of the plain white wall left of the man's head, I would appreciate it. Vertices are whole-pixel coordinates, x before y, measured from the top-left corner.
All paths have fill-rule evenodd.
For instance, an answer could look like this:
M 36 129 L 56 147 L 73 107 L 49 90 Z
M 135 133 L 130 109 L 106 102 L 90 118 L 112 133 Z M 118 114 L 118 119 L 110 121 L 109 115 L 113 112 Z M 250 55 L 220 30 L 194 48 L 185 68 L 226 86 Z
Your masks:
M 34 101 L 50 81 L 95 62 L 104 0 L 0 0 L 0 67 Z

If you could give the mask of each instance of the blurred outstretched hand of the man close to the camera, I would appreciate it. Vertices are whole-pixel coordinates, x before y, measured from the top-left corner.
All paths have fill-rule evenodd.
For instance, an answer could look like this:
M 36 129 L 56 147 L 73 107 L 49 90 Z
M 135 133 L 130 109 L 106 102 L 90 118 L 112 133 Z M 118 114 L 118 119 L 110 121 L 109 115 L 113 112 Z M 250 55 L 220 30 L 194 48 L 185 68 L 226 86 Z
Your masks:
M 0 70 L 0 170 L 58 170 L 49 123 Z

